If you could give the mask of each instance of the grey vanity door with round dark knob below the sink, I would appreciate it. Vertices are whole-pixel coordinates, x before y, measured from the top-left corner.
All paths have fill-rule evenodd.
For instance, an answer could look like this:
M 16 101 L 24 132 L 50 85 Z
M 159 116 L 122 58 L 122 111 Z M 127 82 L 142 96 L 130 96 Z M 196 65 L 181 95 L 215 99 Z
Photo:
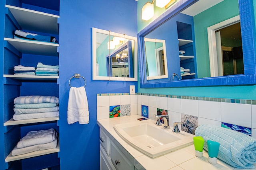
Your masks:
M 111 161 L 118 170 L 134 170 L 134 165 L 124 156 L 121 150 L 111 141 Z

